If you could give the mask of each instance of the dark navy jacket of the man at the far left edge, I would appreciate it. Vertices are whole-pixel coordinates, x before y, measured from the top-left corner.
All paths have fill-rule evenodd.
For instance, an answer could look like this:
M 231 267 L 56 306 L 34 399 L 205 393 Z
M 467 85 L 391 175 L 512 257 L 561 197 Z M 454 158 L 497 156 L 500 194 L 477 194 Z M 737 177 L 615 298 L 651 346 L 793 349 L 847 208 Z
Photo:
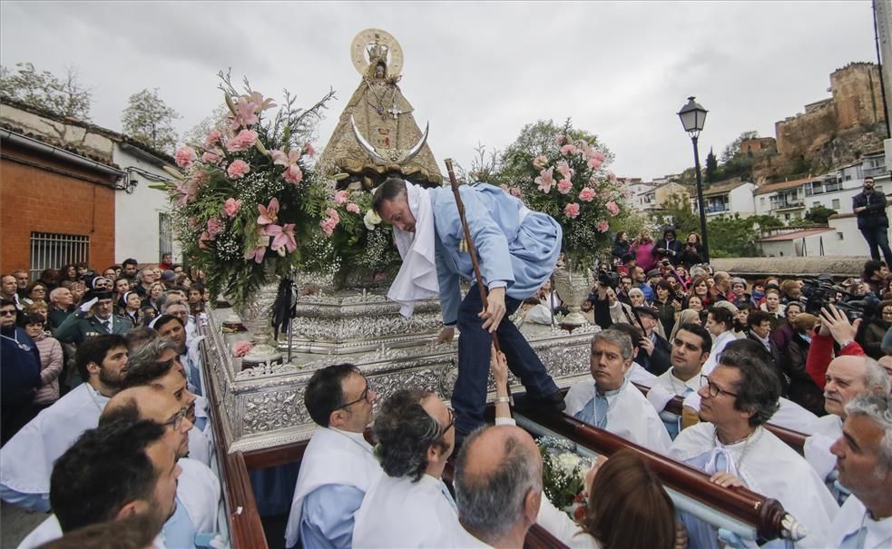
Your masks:
M 6 328 L 0 340 L 0 403 L 18 406 L 34 401 L 40 380 L 40 351 L 22 328 Z M 5 425 L 5 424 L 4 424 Z

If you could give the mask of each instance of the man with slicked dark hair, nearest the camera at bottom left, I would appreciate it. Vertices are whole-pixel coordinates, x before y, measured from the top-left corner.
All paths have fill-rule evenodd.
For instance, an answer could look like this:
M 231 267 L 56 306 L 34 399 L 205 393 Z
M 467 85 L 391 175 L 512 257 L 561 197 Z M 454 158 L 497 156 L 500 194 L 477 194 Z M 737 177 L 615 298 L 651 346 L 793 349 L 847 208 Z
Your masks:
M 54 515 L 19 548 L 32 549 L 65 532 L 131 515 L 146 515 L 152 529 L 160 531 L 173 515 L 181 473 L 165 431 L 152 421 L 127 420 L 85 431 L 54 466 Z

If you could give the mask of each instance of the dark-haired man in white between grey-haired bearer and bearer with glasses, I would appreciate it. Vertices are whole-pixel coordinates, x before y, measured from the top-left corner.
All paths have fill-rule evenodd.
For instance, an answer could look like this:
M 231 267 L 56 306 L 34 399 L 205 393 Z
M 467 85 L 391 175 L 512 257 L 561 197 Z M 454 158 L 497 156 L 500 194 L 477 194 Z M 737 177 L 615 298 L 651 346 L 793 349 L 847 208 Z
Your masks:
M 672 368 L 657 377 L 647 393 L 647 400 L 660 414 L 663 425 L 674 440 L 681 431 L 681 416 L 666 410 L 666 404 L 674 397 L 687 397 L 696 393 L 701 385 L 701 368 L 710 358 L 712 336 L 699 324 L 681 325 L 672 346 Z

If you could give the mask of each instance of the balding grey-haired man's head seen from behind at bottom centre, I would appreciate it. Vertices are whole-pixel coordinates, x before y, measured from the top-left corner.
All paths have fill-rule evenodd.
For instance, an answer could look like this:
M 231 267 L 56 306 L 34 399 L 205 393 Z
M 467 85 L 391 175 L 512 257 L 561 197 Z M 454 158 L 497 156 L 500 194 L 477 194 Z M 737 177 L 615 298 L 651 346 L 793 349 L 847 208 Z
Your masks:
M 456 464 L 460 547 L 522 547 L 542 502 L 542 456 L 517 426 L 471 433 Z

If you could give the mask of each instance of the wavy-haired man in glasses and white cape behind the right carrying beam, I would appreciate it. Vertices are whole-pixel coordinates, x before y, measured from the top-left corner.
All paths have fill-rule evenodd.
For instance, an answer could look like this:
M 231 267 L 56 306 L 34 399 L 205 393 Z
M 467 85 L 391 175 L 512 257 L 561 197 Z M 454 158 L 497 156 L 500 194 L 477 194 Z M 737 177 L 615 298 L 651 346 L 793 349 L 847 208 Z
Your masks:
M 763 425 L 778 409 L 780 381 L 757 341 L 729 343 L 698 393 L 702 422 L 681 431 L 669 456 L 724 487 L 777 499 L 806 528 L 798 547 L 824 547 L 838 505 L 809 463 Z M 717 544 L 715 529 L 682 514 L 692 547 Z

